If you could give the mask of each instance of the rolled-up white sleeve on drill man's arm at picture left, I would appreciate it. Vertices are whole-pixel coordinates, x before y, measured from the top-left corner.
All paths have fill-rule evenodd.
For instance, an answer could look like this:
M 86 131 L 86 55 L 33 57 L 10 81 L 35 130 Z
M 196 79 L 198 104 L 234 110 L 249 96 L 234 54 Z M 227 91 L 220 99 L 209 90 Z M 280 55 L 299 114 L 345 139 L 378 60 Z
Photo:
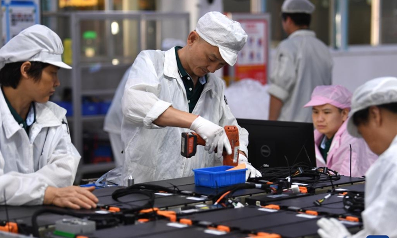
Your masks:
M 153 121 L 172 105 L 159 99 L 161 85 L 155 67 L 164 67 L 164 62 L 155 63 L 159 65 L 145 51 L 136 57 L 122 99 L 124 119 L 148 129 L 162 128 Z

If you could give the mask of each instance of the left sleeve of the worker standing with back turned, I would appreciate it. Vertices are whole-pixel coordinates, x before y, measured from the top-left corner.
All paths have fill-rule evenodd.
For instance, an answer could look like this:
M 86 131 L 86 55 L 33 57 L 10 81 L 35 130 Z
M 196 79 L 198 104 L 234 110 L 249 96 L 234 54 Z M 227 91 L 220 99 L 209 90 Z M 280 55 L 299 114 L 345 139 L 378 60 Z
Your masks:
M 277 50 L 269 82 L 268 93 L 283 102 L 288 99 L 296 83 L 296 67 L 293 56 L 282 45 Z

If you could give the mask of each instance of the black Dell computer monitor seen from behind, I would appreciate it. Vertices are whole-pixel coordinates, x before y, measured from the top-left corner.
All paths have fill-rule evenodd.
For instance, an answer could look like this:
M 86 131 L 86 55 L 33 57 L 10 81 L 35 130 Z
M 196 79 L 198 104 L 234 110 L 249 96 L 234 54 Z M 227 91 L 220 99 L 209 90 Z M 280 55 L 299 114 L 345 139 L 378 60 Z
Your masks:
M 237 119 L 248 133 L 248 161 L 255 168 L 293 166 L 303 162 L 316 166 L 313 123 Z

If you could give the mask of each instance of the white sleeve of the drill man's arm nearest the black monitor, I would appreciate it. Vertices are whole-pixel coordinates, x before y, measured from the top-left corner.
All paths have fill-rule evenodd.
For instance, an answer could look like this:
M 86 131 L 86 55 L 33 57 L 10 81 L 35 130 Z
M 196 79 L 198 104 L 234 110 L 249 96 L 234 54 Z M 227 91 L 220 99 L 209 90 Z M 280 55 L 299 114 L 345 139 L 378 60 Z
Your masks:
M 240 127 L 237 123 L 236 118 L 233 116 L 229 106 L 226 104 L 226 96 L 224 96 L 225 87 L 223 84 L 222 87 L 222 99 L 221 99 L 221 119 L 219 121 L 219 125 L 224 127 L 225 125 L 237 125 L 239 129 L 239 140 L 240 140 L 240 147 L 239 150 L 243 151 L 248 158 L 248 131 L 242 127 Z

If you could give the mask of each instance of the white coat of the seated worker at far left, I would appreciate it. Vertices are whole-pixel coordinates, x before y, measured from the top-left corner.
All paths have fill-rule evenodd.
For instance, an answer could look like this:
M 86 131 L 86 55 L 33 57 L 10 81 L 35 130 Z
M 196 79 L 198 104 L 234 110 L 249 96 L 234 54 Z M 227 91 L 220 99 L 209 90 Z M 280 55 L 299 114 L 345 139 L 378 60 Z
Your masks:
M 0 204 L 4 190 L 8 205 L 40 205 L 47 186 L 73 184 L 80 155 L 70 141 L 66 110 L 51 102 L 35 107 L 28 136 L 0 90 Z

